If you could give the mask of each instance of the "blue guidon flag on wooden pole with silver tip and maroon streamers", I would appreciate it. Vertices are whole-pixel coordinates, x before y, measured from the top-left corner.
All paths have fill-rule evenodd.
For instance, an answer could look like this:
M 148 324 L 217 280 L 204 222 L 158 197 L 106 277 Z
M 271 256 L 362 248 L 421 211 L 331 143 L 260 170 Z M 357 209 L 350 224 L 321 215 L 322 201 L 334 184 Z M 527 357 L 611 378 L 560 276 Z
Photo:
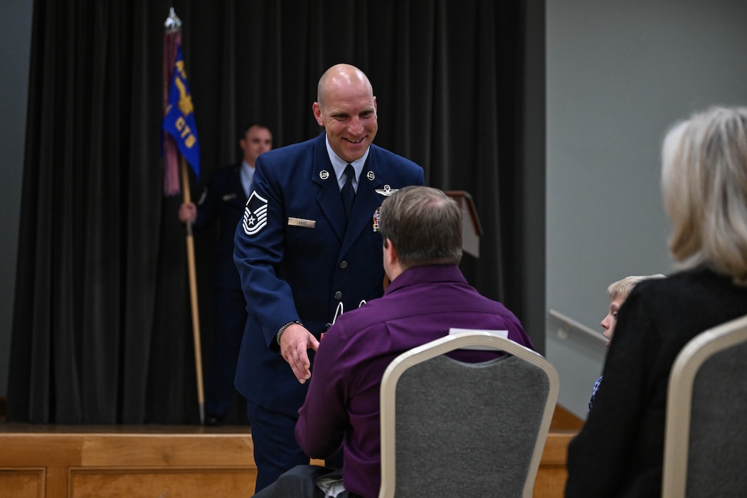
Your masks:
M 194 120 L 192 94 L 187 84 L 187 72 L 182 59 L 182 21 L 171 7 L 164 22 L 164 195 L 179 193 L 179 165 L 182 170 L 184 202 L 190 201 L 187 161 L 199 180 L 199 141 Z M 192 223 L 187 221 L 187 267 L 189 270 L 190 305 L 194 363 L 199 402 L 199 423 L 205 425 L 205 393 L 202 387 L 202 346 L 199 334 L 199 308 L 197 305 L 197 273 L 194 258 Z

